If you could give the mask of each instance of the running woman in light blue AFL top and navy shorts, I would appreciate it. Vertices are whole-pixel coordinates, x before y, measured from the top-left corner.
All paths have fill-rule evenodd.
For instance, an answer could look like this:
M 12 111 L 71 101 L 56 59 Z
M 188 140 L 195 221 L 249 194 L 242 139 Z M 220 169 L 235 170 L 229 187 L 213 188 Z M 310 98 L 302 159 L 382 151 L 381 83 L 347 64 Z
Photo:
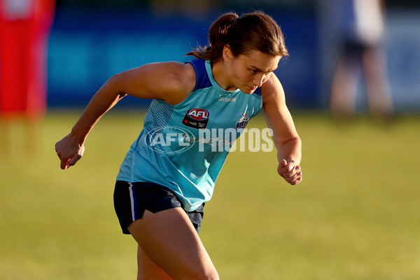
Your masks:
M 272 73 L 288 55 L 281 29 L 262 12 L 227 13 L 211 25 L 209 41 L 209 47 L 189 52 L 195 59 L 186 64 L 146 64 L 111 77 L 55 145 L 60 167 L 67 169 L 82 157 L 95 123 L 121 98 L 153 99 L 114 192 L 121 228 L 139 245 L 137 279 L 218 279 L 198 231 L 228 151 L 212 150 L 200 131 L 237 130 L 239 137 L 263 109 L 274 131 L 279 175 L 292 185 L 302 181 L 301 141 Z M 176 146 L 176 139 L 169 145 L 153 140 L 174 132 L 188 141 Z M 180 148 L 185 144 L 192 145 Z

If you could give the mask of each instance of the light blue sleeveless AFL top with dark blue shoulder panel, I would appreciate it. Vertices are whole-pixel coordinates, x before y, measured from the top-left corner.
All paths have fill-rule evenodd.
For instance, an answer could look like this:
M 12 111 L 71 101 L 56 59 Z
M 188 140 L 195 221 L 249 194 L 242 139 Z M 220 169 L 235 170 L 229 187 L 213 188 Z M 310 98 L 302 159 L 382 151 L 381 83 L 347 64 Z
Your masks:
M 195 69 L 195 89 L 177 105 L 153 99 L 117 180 L 158 183 L 194 211 L 211 199 L 231 144 L 260 112 L 262 99 L 260 87 L 253 94 L 223 90 L 209 61 L 188 63 Z

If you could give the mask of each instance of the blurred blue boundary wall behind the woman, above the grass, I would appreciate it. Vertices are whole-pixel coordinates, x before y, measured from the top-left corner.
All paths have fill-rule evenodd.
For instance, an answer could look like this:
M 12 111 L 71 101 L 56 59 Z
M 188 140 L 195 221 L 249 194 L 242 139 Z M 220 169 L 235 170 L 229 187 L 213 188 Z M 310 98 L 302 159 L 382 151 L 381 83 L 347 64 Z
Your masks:
M 114 73 L 148 62 L 187 61 L 192 57 L 185 57 L 186 52 L 207 45 L 209 25 L 221 13 L 262 9 L 279 22 L 290 50 L 290 58 L 276 71 L 289 106 L 327 109 L 338 55 L 329 10 L 332 2 L 58 0 L 48 45 L 48 105 L 84 106 Z M 393 104 L 399 113 L 416 112 L 420 109 L 420 2 L 386 4 L 384 48 Z M 366 109 L 363 88 L 360 92 L 358 108 Z

